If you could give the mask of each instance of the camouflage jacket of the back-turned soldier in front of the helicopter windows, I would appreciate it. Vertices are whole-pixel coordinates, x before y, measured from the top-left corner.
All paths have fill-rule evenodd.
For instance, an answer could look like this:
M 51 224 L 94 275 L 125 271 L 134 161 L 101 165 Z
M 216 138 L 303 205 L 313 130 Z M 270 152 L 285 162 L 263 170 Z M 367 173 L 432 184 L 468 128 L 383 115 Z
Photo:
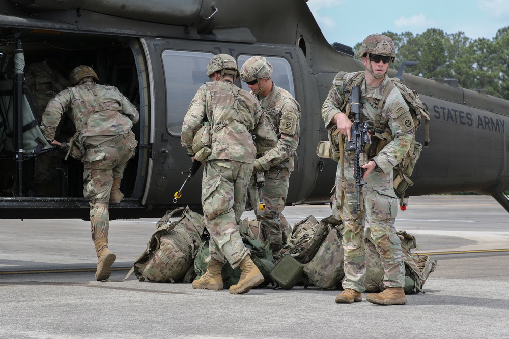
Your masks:
M 209 121 L 212 153 L 207 160 L 229 159 L 252 164 L 257 146 L 270 149 L 277 137 L 258 100 L 230 81 L 212 81 L 200 86 L 182 124 L 182 146 L 190 154 L 194 134 Z

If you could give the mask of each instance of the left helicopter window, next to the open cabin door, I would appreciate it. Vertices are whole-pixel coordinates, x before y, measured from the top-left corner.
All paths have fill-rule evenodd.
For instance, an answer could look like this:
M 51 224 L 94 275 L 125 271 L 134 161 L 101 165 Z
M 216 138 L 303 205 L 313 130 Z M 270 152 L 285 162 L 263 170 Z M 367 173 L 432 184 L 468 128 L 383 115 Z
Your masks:
M 168 104 L 166 126 L 171 135 L 180 136 L 189 103 L 198 88 L 209 81 L 205 71 L 213 56 L 212 53 L 175 50 L 162 53 Z

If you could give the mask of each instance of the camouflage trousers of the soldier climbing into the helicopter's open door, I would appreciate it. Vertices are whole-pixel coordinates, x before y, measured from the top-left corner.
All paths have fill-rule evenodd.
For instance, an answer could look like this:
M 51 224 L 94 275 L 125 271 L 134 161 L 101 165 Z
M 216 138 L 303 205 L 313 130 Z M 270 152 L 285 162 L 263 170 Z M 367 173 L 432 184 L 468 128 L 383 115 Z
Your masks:
M 129 132 L 97 146 L 85 145 L 83 195 L 89 199 L 92 240 L 108 237 L 108 207 L 113 179 L 124 176 L 137 143 L 134 133 Z

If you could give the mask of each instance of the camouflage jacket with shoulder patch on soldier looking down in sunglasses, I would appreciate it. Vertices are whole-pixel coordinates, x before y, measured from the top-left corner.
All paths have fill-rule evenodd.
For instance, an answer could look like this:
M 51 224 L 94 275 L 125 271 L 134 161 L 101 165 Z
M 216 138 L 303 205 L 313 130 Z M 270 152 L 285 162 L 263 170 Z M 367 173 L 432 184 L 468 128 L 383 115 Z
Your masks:
M 258 96 L 262 110 L 277 133 L 277 145 L 257 161 L 264 170 L 271 167 L 293 169 L 299 145 L 300 105 L 286 89 L 272 86 L 266 97 Z

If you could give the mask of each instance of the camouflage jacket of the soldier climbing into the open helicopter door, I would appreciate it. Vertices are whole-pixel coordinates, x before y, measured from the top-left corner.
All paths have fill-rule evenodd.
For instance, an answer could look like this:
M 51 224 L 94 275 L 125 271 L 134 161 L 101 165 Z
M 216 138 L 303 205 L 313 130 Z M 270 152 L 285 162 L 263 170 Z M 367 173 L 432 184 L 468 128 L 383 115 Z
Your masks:
M 54 139 L 62 114 L 69 108 L 76 129 L 88 117 L 80 136 L 124 134 L 139 119 L 136 107 L 116 87 L 87 82 L 66 88 L 49 101 L 41 123 L 46 139 Z

